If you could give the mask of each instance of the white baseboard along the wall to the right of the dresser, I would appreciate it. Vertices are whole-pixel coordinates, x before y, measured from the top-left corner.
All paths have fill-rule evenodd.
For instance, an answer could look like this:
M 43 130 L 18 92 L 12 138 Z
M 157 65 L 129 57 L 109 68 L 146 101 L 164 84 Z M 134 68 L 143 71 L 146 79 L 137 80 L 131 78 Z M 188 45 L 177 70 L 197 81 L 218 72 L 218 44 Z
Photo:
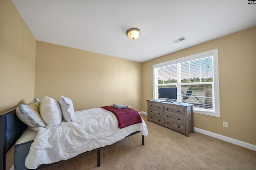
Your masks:
M 226 142 L 229 142 L 229 143 L 233 143 L 235 145 L 238 145 L 240 147 L 244 147 L 244 148 L 247 148 L 247 149 L 250 149 L 250 150 L 254 150 L 256 151 L 256 145 L 252 145 L 250 143 L 246 143 L 246 142 L 243 142 L 243 141 L 238 141 L 236 139 L 232 139 L 230 137 L 226 137 L 226 136 L 222 136 L 222 135 L 219 135 L 217 133 L 212 133 L 210 131 L 206 131 L 206 130 L 203 130 L 203 129 L 199 129 L 199 128 L 196 128 L 194 127 L 194 131 L 198 132 L 198 133 L 202 133 L 204 135 L 208 135 L 208 136 L 211 136 L 211 137 L 214 137 L 214 138 L 217 138 L 217 139 L 220 139 L 222 141 L 226 141 Z

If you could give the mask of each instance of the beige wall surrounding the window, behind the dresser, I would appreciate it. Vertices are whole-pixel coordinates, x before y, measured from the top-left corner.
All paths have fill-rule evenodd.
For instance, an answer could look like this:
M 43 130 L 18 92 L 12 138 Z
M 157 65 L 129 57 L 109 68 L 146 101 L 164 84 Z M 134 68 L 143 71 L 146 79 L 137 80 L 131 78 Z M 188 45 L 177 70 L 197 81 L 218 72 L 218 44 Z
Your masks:
M 142 64 L 143 111 L 153 98 L 152 65 L 218 49 L 220 117 L 194 114 L 194 125 L 256 145 L 256 26 Z M 228 122 L 228 128 L 222 127 Z

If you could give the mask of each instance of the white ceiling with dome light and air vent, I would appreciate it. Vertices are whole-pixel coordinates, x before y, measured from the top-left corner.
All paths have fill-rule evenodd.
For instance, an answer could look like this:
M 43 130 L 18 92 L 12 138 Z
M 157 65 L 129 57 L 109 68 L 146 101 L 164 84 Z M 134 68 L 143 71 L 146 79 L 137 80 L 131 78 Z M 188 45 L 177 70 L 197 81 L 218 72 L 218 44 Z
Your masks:
M 256 25 L 256 4 L 248 0 L 12 2 L 38 41 L 138 62 Z M 142 31 L 136 40 L 126 35 L 132 27 Z

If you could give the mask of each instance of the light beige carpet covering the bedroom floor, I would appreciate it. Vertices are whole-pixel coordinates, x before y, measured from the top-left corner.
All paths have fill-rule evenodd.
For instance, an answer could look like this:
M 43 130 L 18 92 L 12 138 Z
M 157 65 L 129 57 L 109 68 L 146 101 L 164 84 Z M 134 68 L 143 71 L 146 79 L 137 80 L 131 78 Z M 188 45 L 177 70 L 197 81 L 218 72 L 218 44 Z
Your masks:
M 147 121 L 148 137 L 141 144 L 141 133 L 80 154 L 44 170 L 256 170 L 256 152 L 203 135 L 189 137 Z

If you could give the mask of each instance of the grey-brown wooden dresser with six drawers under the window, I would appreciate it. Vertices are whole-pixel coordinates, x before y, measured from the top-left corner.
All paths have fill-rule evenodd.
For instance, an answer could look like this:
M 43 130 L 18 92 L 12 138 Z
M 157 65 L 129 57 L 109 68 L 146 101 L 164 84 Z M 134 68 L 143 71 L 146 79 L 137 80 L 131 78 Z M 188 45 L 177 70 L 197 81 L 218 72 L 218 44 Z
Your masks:
M 184 133 L 186 137 L 194 133 L 193 104 L 180 102 L 161 102 L 161 100 L 147 100 L 148 121 L 152 121 Z

